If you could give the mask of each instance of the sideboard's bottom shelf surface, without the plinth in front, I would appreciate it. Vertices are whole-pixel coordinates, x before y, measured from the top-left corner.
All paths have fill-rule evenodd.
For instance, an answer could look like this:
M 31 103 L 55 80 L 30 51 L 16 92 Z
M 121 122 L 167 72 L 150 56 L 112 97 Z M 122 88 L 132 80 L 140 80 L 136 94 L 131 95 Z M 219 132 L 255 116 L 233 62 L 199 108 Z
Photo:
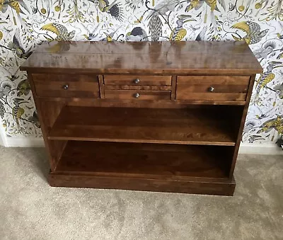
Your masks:
M 232 154 L 233 147 L 69 141 L 54 174 L 228 180 Z

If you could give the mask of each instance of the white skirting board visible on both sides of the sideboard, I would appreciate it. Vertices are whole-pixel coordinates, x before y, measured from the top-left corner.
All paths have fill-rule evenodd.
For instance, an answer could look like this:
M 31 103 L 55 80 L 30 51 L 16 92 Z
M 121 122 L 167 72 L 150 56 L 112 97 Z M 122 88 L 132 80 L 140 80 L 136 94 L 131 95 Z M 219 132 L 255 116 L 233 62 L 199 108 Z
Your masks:
M 0 137 L 1 139 L 1 137 Z M 5 147 L 44 147 L 42 138 L 3 137 L 0 144 Z M 283 154 L 283 150 L 274 143 L 246 144 L 242 143 L 239 154 Z

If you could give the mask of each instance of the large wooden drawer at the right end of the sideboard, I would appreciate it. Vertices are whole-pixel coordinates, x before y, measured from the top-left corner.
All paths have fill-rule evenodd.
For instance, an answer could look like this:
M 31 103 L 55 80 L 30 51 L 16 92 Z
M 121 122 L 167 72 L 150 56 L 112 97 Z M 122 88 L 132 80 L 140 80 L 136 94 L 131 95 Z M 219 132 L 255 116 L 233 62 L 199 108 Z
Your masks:
M 250 76 L 178 76 L 177 100 L 246 101 Z

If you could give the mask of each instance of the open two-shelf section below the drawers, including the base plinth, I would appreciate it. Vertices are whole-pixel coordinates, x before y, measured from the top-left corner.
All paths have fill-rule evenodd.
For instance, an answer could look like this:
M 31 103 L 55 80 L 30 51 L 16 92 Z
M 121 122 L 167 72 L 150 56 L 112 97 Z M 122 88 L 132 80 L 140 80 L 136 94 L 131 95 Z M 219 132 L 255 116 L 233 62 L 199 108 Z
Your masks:
M 232 195 L 243 106 L 122 108 L 65 105 L 47 139 L 66 144 L 54 186 Z

